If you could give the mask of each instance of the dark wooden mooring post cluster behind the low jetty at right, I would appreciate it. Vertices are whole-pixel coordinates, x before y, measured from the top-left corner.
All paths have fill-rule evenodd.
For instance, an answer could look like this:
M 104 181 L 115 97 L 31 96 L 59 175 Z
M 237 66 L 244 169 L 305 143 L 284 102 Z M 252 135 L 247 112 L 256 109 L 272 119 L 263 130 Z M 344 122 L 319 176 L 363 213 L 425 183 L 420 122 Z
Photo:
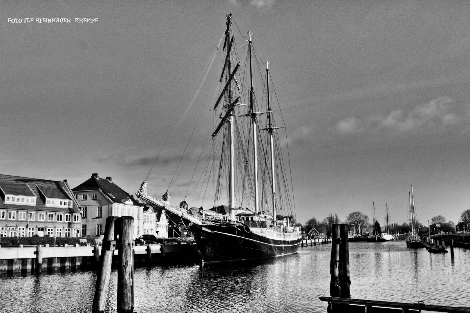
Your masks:
M 348 226 L 331 225 L 331 297 L 350 298 Z

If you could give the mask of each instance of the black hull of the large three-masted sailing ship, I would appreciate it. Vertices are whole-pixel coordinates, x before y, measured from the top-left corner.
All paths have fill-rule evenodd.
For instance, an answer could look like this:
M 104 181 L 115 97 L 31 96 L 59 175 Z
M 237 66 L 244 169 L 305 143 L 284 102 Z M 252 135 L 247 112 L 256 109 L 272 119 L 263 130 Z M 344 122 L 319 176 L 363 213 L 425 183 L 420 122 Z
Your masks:
M 253 233 L 239 223 L 194 225 L 196 244 L 204 263 L 274 258 L 297 252 L 301 238 L 275 240 Z

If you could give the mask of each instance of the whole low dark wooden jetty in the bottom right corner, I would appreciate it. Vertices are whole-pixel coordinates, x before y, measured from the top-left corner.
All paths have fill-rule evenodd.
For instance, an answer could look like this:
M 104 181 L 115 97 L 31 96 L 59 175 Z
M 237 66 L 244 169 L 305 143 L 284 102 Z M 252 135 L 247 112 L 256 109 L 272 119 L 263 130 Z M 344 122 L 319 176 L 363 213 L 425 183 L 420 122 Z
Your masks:
M 321 301 L 328 302 L 328 312 L 350 312 L 350 313 L 398 313 L 398 312 L 470 312 L 470 307 L 447 306 L 447 305 L 427 305 L 422 301 L 418 303 L 374 301 L 350 298 L 323 297 Z

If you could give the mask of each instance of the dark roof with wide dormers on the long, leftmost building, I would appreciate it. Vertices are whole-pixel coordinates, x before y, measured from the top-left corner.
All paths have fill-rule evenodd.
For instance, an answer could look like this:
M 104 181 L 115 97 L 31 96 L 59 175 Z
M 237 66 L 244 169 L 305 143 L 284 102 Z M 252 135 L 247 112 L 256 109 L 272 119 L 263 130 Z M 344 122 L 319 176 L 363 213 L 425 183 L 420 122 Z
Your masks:
M 0 208 L 11 210 L 38 210 L 52 212 L 80 213 L 77 202 L 67 186 L 66 181 L 59 182 L 47 179 L 29 178 L 0 174 Z M 17 205 L 5 202 L 5 194 L 36 197 L 35 205 Z M 72 207 L 46 206 L 46 198 L 72 200 Z

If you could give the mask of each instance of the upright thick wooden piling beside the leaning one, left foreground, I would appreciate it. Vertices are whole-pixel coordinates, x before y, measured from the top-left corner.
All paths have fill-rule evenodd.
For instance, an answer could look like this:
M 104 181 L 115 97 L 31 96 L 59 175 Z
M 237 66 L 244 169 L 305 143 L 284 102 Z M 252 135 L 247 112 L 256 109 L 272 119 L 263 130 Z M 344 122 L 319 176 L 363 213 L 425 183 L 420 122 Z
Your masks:
M 133 313 L 134 311 L 133 221 L 132 216 L 122 216 L 120 218 L 117 307 L 119 313 Z

